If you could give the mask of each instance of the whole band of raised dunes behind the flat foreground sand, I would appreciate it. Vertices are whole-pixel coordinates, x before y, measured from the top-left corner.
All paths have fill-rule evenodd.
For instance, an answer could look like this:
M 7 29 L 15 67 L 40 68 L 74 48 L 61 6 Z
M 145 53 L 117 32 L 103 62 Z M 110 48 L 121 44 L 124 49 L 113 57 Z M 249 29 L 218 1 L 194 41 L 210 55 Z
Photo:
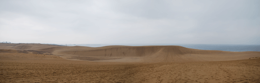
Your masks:
M 0 49 L 37 50 L 65 59 L 95 62 L 208 62 L 260 57 L 260 52 L 198 50 L 182 46 L 85 47 L 48 44 L 1 44 Z

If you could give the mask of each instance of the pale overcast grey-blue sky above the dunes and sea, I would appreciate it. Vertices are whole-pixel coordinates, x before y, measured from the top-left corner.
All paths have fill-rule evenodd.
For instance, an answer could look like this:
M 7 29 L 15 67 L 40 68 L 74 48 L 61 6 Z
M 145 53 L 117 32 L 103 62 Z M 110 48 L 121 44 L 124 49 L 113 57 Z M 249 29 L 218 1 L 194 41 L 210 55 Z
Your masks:
M 0 0 L 0 42 L 260 44 L 260 0 Z

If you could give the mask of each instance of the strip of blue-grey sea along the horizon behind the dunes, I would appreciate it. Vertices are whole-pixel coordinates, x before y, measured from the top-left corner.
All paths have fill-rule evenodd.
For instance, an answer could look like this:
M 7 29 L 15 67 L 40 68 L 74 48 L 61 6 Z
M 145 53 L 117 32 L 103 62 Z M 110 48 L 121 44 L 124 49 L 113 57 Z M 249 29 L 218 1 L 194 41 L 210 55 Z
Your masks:
M 201 49 L 201 50 L 221 50 L 221 51 L 260 51 L 258 44 L 68 44 L 66 46 L 88 46 L 102 47 L 109 45 L 127 45 L 127 46 L 154 46 L 154 45 L 179 45 L 186 48 Z

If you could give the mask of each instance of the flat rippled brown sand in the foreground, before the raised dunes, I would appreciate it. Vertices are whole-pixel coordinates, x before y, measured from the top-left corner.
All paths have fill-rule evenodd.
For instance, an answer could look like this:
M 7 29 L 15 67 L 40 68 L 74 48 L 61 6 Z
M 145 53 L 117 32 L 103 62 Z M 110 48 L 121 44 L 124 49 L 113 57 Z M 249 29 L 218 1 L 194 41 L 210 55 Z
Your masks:
M 259 62 L 86 62 L 0 50 L 0 83 L 259 83 Z

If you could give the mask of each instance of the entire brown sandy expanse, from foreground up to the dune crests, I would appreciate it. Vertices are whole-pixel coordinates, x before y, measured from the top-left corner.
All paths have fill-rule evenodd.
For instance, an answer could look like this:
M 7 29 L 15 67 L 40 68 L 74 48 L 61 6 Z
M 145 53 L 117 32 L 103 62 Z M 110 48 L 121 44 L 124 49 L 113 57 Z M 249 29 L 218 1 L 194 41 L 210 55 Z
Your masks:
M 259 83 L 260 52 L 0 43 L 0 83 Z

